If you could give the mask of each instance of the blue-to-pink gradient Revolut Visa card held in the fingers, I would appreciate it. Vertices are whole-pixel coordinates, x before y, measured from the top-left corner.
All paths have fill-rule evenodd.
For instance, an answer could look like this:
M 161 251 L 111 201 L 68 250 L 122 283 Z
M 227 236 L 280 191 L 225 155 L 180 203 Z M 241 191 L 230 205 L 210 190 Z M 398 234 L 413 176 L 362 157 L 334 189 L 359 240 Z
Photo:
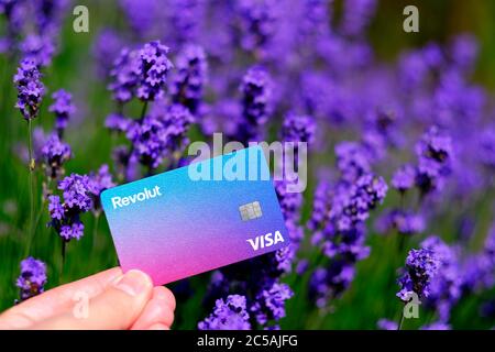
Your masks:
M 101 202 L 122 268 L 155 285 L 289 244 L 260 146 L 107 189 Z

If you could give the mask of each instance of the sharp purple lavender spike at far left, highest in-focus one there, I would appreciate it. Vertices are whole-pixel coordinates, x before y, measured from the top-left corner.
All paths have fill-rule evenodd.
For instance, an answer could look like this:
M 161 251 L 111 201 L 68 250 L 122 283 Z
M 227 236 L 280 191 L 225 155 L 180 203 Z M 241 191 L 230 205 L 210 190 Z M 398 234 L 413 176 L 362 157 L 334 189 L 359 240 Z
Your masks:
M 40 106 L 45 95 L 45 87 L 41 81 L 42 75 L 33 61 L 24 59 L 14 76 L 18 88 L 18 102 L 15 108 L 21 110 L 26 120 L 37 117 Z

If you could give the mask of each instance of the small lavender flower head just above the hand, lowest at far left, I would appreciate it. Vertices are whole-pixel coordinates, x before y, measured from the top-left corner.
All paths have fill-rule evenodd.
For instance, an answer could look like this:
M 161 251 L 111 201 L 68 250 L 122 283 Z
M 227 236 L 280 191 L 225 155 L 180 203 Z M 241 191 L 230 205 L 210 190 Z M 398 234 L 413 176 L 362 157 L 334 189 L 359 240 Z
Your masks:
M 32 256 L 21 262 L 21 275 L 16 280 L 16 286 L 21 290 L 21 301 L 42 294 L 46 282 L 45 263 Z

